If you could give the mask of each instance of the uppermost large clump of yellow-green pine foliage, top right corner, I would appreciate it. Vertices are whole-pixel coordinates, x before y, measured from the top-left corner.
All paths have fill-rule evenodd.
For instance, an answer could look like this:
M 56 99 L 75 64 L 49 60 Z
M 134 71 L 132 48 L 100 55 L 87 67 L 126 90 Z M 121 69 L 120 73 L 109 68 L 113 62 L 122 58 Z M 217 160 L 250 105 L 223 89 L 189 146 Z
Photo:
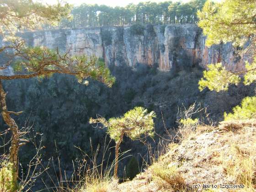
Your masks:
M 221 3 L 206 1 L 197 13 L 198 26 L 207 35 L 206 45 L 232 42 L 243 46 L 249 39 L 255 43 L 255 0 L 224 0 Z

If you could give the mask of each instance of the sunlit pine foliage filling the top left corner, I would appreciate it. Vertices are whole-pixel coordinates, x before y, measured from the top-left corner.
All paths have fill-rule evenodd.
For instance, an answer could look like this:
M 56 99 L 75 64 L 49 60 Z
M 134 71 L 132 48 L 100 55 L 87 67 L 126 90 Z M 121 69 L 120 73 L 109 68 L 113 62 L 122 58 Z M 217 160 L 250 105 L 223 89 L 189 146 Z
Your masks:
M 0 34 L 10 35 L 22 29 L 56 25 L 69 18 L 71 5 L 43 5 L 32 0 L 0 0 Z

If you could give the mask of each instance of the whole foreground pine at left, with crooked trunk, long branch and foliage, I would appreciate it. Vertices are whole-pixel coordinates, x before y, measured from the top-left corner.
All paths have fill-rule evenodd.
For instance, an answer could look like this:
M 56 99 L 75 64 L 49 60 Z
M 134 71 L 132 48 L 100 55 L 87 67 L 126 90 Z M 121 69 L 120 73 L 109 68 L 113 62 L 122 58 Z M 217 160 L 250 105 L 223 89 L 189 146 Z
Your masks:
M 17 31 L 24 29 L 38 29 L 43 24 L 57 24 L 61 18 L 70 16 L 71 6 L 43 5 L 32 0 L 0 0 L 0 35 L 4 38 L 5 45 L 0 47 L 0 53 L 9 60 L 1 61 L 0 69 L 9 66 L 15 70 L 14 75 L 0 75 L 0 80 L 28 79 L 32 77 L 48 77 L 54 73 L 75 75 L 80 83 L 87 84 L 86 78 L 95 80 L 111 86 L 114 77 L 110 75 L 109 69 L 104 63 L 95 57 L 76 57 L 69 53 L 59 53 L 46 47 L 27 47 L 24 39 L 16 37 Z M 12 164 L 12 186 L 16 186 L 18 179 L 18 150 L 28 142 L 21 139 L 24 133 L 20 132 L 11 114 L 19 115 L 21 112 L 7 110 L 2 82 L 0 81 L 0 108 L 1 114 L 12 133 L 10 157 Z M 11 189 L 15 191 L 16 189 Z

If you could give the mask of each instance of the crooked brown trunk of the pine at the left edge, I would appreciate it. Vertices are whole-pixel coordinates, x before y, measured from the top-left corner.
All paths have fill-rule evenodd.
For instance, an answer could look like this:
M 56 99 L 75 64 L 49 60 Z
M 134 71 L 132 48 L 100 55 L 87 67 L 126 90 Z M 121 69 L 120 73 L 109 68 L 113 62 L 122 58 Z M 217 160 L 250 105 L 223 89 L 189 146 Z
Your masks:
M 10 112 L 7 110 L 5 102 L 6 93 L 3 89 L 2 83 L 0 81 L 0 107 L 2 110 L 2 117 L 8 127 L 11 129 L 11 147 L 10 147 L 10 162 L 12 163 L 12 182 L 13 186 L 16 186 L 18 179 L 18 150 L 19 150 L 19 128 L 15 123 L 14 119 L 11 118 Z

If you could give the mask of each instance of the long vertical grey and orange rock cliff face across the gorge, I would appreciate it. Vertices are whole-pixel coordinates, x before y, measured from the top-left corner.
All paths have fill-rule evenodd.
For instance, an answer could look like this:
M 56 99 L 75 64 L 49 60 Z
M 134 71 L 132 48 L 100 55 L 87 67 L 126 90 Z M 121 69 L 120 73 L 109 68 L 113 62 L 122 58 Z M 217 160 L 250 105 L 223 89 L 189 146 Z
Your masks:
M 205 46 L 206 37 L 196 25 L 144 26 L 141 33 L 130 26 L 95 27 L 24 32 L 19 35 L 31 46 L 69 50 L 72 55 L 96 55 L 109 65 L 137 64 L 162 71 L 222 62 L 229 69 L 241 69 L 246 58 L 235 56 L 231 43 Z

